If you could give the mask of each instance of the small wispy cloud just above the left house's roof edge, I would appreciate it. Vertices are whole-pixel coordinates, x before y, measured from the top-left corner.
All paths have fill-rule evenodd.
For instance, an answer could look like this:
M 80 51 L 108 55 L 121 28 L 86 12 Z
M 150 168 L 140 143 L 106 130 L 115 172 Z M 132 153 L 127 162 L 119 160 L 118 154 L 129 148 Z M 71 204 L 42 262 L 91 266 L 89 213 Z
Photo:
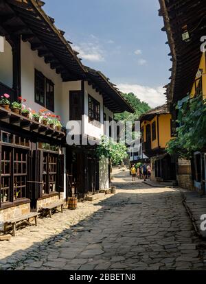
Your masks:
M 93 61 L 104 61 L 104 51 L 96 43 L 81 43 L 79 45 L 73 45 L 73 49 L 80 53 L 80 58 Z

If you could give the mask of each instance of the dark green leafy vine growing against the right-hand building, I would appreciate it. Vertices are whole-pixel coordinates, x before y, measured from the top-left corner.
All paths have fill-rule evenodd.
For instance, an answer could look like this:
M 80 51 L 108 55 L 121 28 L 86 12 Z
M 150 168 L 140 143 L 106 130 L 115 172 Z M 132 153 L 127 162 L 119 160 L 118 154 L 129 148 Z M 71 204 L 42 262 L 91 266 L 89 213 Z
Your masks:
M 168 143 L 168 153 L 180 158 L 192 158 L 206 145 L 206 100 L 196 97 L 179 108 L 176 138 Z

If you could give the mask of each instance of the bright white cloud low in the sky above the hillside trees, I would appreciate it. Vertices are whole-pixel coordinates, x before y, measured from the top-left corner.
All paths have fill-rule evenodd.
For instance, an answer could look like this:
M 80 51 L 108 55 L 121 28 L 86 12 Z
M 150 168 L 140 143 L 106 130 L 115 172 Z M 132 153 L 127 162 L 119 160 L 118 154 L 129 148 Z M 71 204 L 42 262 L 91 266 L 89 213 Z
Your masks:
M 138 84 L 118 84 L 122 93 L 134 93 L 141 101 L 147 102 L 151 108 L 165 104 L 165 89 L 162 87 L 151 88 Z

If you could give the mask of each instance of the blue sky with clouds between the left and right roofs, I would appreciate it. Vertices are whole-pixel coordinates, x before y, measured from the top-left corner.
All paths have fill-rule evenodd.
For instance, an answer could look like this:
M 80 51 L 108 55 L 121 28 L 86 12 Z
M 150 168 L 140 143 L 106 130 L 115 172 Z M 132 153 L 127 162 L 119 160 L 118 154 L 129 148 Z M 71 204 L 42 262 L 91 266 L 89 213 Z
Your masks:
M 172 62 L 158 0 L 45 0 L 82 63 L 102 71 L 123 92 L 155 107 L 165 102 Z

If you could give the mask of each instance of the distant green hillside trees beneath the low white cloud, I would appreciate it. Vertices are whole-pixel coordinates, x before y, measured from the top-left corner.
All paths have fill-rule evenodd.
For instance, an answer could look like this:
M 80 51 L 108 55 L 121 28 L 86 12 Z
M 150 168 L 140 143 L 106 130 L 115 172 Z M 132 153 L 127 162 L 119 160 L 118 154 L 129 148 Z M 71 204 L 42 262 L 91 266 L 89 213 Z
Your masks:
M 146 102 L 141 102 L 138 97 L 135 96 L 133 93 L 124 94 L 122 93 L 122 96 L 126 101 L 132 106 L 135 110 L 135 113 L 119 113 L 115 115 L 115 119 L 117 121 L 138 121 L 139 117 L 146 113 L 148 110 L 150 110 L 150 106 Z

